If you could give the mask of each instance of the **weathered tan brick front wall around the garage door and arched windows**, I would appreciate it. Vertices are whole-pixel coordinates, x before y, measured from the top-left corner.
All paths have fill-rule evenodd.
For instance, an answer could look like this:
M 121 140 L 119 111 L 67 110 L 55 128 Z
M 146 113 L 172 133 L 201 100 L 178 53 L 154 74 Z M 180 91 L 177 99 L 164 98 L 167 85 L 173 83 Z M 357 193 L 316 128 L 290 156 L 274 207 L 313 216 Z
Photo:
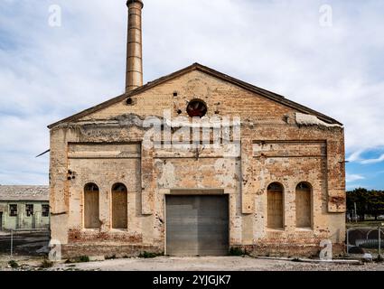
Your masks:
M 173 96 L 174 92 L 177 96 Z M 147 128 L 133 124 L 129 116 L 164 117 L 164 109 L 170 109 L 170 117 L 175 118 L 181 109 L 182 116 L 187 117 L 186 103 L 193 98 L 206 102 L 207 117 L 240 117 L 238 156 L 229 157 L 226 147 L 200 147 L 197 155 L 194 149 L 154 150 L 143 146 L 140 159 L 109 155 L 100 160 L 94 155 L 126 151 L 113 145 L 142 143 Z M 98 244 L 95 254 L 113 251 L 117 244 L 161 251 L 164 195 L 179 188 L 222 189 L 229 194 L 230 246 L 254 248 L 260 254 L 267 254 L 269 249 L 275 252 L 278 246 L 282 254 L 288 251 L 304 255 L 303 252 L 317 250 L 320 240 L 330 238 L 336 247 L 342 247 L 343 129 L 298 126 L 295 113 L 294 108 L 192 71 L 134 96 L 133 105 L 122 100 L 77 122 L 53 127 L 52 237 L 68 244 L 71 254 L 75 254 L 76 247 L 80 252 L 84 248 L 80 244 L 84 243 Z M 81 147 L 74 143 L 109 146 L 100 145 L 85 157 Z M 75 172 L 75 179 L 68 179 L 69 170 Z M 95 182 L 100 187 L 100 230 L 82 228 L 82 189 L 86 182 Z M 110 190 L 115 182 L 124 182 L 130 188 L 126 231 L 110 229 Z M 270 182 L 281 182 L 285 188 L 285 229 L 280 231 L 266 228 Z M 295 186 L 299 182 L 309 182 L 314 189 L 313 230 L 295 228 Z M 294 247 L 308 249 L 295 251 Z

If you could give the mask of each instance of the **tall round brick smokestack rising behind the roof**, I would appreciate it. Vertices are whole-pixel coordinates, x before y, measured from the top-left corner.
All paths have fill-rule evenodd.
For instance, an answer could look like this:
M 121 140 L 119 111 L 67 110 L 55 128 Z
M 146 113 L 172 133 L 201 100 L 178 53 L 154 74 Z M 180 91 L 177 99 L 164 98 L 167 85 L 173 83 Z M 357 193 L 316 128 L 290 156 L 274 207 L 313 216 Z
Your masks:
M 143 86 L 142 0 L 128 0 L 128 38 L 126 48 L 126 92 Z

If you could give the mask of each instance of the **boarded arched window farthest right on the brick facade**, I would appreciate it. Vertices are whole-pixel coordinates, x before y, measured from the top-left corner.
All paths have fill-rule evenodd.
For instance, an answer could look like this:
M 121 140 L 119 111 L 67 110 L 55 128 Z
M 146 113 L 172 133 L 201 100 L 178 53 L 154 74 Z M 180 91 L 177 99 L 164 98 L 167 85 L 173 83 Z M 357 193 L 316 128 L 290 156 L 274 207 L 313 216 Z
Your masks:
M 307 182 L 296 187 L 296 227 L 312 228 L 312 188 Z

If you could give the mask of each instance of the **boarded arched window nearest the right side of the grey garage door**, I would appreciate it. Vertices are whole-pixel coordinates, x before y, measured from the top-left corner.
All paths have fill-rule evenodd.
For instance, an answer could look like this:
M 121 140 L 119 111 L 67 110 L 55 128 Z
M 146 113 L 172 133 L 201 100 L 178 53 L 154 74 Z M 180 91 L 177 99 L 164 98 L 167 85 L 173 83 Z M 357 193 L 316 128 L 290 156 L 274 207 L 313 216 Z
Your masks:
M 278 182 L 267 189 L 267 227 L 284 228 L 284 189 Z

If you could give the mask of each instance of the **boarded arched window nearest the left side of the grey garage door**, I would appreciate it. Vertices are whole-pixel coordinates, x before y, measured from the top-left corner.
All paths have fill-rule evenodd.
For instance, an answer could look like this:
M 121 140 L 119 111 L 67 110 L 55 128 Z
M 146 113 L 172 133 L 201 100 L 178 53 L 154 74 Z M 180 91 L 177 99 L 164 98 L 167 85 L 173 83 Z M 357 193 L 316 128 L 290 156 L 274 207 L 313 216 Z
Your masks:
M 128 191 L 122 183 L 112 187 L 112 228 L 128 228 Z

